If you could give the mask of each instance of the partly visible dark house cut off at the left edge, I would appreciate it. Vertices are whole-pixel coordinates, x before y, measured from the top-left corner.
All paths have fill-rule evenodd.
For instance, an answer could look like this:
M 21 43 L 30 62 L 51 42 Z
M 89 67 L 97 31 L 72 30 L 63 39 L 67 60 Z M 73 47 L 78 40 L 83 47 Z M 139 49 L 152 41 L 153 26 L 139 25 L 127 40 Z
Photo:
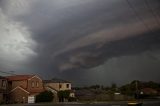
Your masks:
M 7 98 L 7 79 L 0 76 L 0 103 L 5 103 Z

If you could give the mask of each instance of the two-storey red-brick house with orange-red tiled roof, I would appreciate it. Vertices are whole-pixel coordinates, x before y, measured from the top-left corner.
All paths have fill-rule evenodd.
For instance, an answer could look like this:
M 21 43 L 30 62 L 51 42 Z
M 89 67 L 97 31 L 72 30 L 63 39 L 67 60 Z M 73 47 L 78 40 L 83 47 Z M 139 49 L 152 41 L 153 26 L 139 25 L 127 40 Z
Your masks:
M 27 103 L 29 97 L 35 97 L 44 91 L 43 81 L 37 75 L 15 75 L 6 78 L 10 103 Z

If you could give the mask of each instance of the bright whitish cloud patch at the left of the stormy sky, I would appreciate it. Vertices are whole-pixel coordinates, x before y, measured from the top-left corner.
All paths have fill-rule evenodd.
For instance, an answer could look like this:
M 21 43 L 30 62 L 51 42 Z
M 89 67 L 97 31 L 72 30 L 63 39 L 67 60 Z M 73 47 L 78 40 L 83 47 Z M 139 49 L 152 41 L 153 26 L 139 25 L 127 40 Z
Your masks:
M 3 65 L 2 69 L 8 69 L 14 64 L 18 65 L 17 63 L 36 55 L 32 50 L 35 42 L 30 39 L 30 32 L 21 23 L 9 19 L 1 8 L 0 25 L 0 64 Z

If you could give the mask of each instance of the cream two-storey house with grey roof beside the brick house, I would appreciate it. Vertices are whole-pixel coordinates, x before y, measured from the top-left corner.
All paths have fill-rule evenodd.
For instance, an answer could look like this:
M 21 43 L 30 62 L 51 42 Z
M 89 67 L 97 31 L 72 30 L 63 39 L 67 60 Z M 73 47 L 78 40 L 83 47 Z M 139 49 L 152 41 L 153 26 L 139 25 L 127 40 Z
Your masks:
M 58 100 L 58 91 L 70 91 L 70 97 L 75 97 L 73 90 L 71 89 L 71 82 L 62 79 L 44 80 L 44 88 L 51 91 L 54 94 L 54 101 Z

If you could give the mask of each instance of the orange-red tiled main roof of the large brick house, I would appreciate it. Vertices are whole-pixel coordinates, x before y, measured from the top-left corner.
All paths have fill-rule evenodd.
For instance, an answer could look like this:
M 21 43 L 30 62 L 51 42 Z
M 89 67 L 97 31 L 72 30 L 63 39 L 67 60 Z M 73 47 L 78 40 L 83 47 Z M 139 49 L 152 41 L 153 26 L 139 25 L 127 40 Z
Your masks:
M 34 75 L 15 75 L 15 76 L 7 76 L 6 78 L 10 81 L 20 81 L 20 80 L 28 80 Z

